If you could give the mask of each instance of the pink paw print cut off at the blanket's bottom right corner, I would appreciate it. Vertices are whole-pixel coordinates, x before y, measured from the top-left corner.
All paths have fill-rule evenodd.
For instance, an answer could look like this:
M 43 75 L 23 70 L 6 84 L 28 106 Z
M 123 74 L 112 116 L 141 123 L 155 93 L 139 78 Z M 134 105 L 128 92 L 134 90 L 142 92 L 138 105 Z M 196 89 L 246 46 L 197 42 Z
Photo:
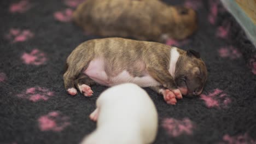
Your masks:
M 223 141 L 219 142 L 219 144 L 247 144 L 247 143 L 256 143 L 256 140 L 253 140 L 248 134 L 238 135 L 238 136 L 230 136 L 228 134 L 223 136 Z

